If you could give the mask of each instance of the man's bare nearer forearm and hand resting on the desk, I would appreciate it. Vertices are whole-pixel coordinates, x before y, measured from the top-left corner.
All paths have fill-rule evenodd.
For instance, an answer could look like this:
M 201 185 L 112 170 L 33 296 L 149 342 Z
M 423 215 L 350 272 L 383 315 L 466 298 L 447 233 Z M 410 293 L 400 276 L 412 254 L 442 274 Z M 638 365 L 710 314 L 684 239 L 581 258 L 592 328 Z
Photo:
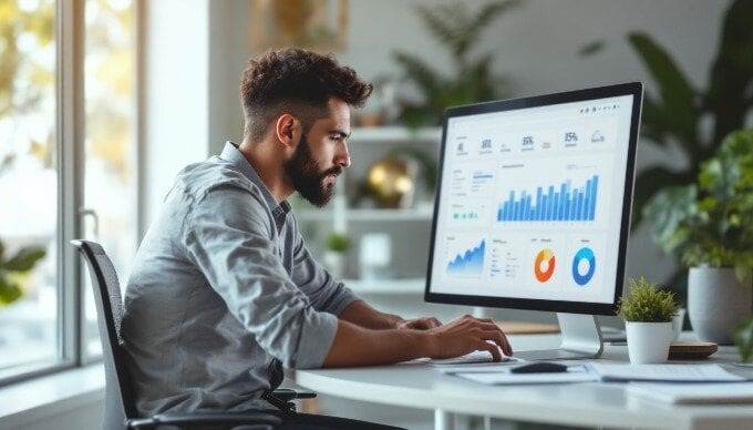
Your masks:
M 323 367 L 376 366 L 421 357 L 450 358 L 487 350 L 495 361 L 499 349 L 513 355 L 505 334 L 491 319 L 465 315 L 427 330 L 374 330 L 340 319 Z

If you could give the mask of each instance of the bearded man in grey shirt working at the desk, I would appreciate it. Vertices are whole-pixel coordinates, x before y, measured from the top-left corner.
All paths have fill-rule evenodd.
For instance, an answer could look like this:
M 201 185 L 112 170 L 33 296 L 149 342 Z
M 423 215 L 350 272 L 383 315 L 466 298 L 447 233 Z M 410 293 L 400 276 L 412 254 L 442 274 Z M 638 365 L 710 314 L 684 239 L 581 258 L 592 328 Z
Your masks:
M 441 325 L 373 309 L 303 245 L 286 198 L 297 191 L 327 204 L 350 165 L 350 106 L 371 91 L 333 58 L 303 50 L 250 62 L 243 143 L 178 174 L 136 256 L 123 337 L 140 412 L 269 409 L 261 396 L 281 366 L 512 354 L 491 320 Z

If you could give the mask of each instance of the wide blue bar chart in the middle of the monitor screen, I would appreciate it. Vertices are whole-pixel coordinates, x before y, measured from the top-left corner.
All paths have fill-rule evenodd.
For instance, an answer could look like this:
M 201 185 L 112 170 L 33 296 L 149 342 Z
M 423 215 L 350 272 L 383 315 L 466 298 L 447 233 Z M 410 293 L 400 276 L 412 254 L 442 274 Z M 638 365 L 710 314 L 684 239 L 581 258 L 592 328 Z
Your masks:
M 534 193 L 509 192 L 509 197 L 499 205 L 497 221 L 594 221 L 598 196 L 599 175 L 594 175 L 580 187 L 573 187 L 571 181 L 549 186 L 539 186 Z

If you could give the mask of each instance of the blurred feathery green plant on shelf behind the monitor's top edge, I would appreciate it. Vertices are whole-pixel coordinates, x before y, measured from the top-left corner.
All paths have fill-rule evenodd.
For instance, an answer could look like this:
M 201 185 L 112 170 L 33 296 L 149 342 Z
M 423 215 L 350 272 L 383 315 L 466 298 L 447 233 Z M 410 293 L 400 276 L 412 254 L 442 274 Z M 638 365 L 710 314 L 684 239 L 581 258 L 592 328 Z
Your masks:
M 439 125 L 442 112 L 451 105 L 468 104 L 498 99 L 504 80 L 494 76 L 491 52 L 472 59 L 471 53 L 481 39 L 482 31 L 497 16 L 513 9 L 518 0 L 495 1 L 482 7 L 476 13 L 462 2 L 415 8 L 426 29 L 450 51 L 455 66 L 453 76 L 445 76 L 413 53 L 396 51 L 393 59 L 403 69 L 404 79 L 422 93 L 423 100 L 400 100 L 401 120 L 411 129 L 421 125 Z

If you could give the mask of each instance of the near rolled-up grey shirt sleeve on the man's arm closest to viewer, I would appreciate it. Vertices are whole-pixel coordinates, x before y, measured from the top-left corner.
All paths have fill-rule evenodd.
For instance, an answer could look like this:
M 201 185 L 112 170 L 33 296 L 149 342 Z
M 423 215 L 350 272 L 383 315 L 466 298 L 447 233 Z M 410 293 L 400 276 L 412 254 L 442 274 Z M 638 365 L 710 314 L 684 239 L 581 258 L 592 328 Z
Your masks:
M 262 197 L 243 183 L 224 183 L 198 197 L 184 223 L 188 258 L 240 324 L 288 368 L 318 368 L 337 332 L 296 287 L 271 239 Z

